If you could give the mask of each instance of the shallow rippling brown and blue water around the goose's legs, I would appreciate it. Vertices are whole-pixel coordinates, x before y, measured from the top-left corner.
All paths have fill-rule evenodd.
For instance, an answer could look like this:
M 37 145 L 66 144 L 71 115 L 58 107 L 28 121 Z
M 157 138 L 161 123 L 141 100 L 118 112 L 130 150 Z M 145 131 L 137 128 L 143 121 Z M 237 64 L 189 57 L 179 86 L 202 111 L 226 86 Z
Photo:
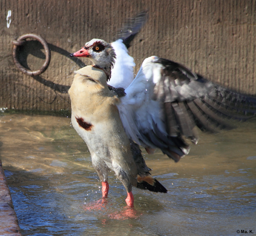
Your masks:
M 174 163 L 157 151 L 146 163 L 167 194 L 133 188 L 137 218 L 125 210 L 126 191 L 114 174 L 105 208 L 90 153 L 70 118 L 0 117 L 1 159 L 23 235 L 244 235 L 256 233 L 256 120 L 218 134 Z

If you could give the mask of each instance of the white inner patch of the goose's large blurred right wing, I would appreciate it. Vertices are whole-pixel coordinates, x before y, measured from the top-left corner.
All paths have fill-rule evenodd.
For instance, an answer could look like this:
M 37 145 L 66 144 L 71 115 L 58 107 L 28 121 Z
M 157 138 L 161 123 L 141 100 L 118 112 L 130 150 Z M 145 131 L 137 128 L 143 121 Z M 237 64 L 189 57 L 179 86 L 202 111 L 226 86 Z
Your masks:
M 135 79 L 125 89 L 126 95 L 117 105 L 127 136 L 137 144 L 151 148 L 156 146 L 148 143 L 143 134 L 152 132 L 157 125 L 158 130 L 168 136 L 164 121 L 160 119 L 161 105 L 153 100 L 155 83 L 161 77 L 161 65 L 153 62 L 157 59 L 153 56 L 144 60 Z

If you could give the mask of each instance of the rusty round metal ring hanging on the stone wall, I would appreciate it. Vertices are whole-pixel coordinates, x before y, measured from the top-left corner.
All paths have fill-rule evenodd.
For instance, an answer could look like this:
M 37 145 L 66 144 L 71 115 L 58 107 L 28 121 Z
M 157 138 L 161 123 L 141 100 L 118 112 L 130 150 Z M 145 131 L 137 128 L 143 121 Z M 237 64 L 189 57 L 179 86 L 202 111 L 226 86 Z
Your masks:
M 31 70 L 26 69 L 25 67 L 23 67 L 18 62 L 17 57 L 16 57 L 16 52 L 17 52 L 18 46 L 21 46 L 22 44 L 24 44 L 25 41 L 26 41 L 25 39 L 27 39 L 27 38 L 36 39 L 37 41 L 39 41 L 43 45 L 43 47 L 45 49 L 45 62 L 42 65 L 41 69 L 39 69 L 37 71 L 31 71 Z M 28 33 L 28 34 L 25 34 L 25 35 L 22 35 L 22 36 L 18 37 L 17 40 L 13 40 L 12 44 L 13 44 L 13 59 L 14 59 L 14 63 L 17 66 L 17 68 L 20 71 L 22 71 L 23 73 L 25 73 L 26 75 L 30 75 L 30 76 L 40 75 L 49 66 L 50 60 L 51 60 L 51 51 L 50 51 L 50 49 L 48 47 L 47 42 L 40 35 L 36 35 L 34 33 Z

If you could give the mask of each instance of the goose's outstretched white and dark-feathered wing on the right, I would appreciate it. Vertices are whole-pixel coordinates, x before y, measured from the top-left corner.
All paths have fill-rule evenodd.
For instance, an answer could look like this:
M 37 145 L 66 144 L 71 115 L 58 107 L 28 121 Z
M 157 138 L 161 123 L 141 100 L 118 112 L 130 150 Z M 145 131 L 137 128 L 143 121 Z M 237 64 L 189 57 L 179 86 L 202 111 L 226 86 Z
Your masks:
M 197 143 L 195 126 L 217 132 L 233 128 L 223 117 L 241 120 L 256 113 L 256 98 L 155 56 L 144 60 L 125 93 L 118 109 L 128 137 L 146 148 L 160 148 L 175 161 L 189 152 L 184 137 Z

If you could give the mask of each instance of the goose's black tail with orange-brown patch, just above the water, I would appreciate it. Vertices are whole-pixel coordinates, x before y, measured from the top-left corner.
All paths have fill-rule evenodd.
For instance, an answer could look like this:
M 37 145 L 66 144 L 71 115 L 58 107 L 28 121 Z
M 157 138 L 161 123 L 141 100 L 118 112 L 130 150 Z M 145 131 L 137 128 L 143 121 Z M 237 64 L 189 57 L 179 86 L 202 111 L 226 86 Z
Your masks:
M 141 177 L 138 175 L 138 183 L 137 188 L 147 189 L 156 193 L 167 193 L 167 189 L 157 181 L 157 179 L 153 178 L 151 175 L 147 175 L 145 177 Z

